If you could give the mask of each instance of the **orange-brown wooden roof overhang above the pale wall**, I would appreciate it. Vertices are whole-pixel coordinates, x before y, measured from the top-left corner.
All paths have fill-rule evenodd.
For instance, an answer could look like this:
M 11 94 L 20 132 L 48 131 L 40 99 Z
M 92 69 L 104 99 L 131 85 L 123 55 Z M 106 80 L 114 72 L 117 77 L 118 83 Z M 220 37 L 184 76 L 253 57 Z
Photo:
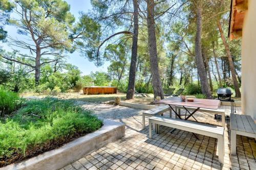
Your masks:
M 248 9 L 248 0 L 231 0 L 229 33 L 230 40 L 242 37 L 243 22 Z

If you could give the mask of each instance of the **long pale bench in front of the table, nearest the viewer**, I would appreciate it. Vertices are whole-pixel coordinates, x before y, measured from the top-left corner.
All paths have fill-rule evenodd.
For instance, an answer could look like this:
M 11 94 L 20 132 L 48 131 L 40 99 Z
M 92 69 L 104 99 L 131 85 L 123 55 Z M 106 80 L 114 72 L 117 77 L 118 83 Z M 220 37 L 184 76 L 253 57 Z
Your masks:
M 153 116 L 149 119 L 149 137 L 152 138 L 152 127 L 156 124 L 157 132 L 159 133 L 159 125 L 167 126 L 170 128 L 180 129 L 183 131 L 193 132 L 205 136 L 210 136 L 218 139 L 218 152 L 219 152 L 219 162 L 224 162 L 224 128 L 214 125 L 207 125 L 203 123 L 168 118 L 163 116 Z

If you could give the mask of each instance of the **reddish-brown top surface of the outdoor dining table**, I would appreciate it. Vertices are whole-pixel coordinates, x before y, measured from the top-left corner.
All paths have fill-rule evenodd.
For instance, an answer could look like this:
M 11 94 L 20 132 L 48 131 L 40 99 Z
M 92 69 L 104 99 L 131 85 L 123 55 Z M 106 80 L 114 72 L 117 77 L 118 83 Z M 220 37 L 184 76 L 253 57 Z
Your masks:
M 167 98 L 156 101 L 157 104 L 176 105 L 184 107 L 196 107 L 205 109 L 218 109 L 220 105 L 219 100 L 212 99 L 194 99 L 194 102 L 181 102 L 180 98 Z

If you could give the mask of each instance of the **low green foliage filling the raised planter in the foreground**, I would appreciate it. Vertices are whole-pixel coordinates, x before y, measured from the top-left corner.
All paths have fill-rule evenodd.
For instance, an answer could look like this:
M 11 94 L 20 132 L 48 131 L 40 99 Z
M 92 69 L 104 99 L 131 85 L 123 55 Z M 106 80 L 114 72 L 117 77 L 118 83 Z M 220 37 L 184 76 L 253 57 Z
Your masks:
M 101 120 L 72 101 L 28 101 L 0 122 L 0 167 L 56 148 L 101 126 Z

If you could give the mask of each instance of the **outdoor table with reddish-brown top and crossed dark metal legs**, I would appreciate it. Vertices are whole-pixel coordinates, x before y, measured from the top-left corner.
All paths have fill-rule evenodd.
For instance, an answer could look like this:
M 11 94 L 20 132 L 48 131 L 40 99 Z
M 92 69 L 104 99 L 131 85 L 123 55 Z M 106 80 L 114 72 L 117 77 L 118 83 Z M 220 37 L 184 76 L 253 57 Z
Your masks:
M 176 114 L 177 117 L 180 119 L 183 119 L 181 116 L 185 116 L 184 120 L 187 120 L 189 117 L 193 117 L 196 121 L 197 119 L 193 116 L 200 108 L 204 109 L 218 109 L 220 105 L 219 100 L 211 100 L 211 99 L 194 99 L 194 102 L 181 102 L 180 98 L 167 98 L 163 100 L 159 100 L 155 102 L 156 104 L 165 104 L 172 109 L 172 111 Z M 180 115 L 175 111 L 175 108 L 173 106 L 182 106 L 188 115 Z M 189 110 L 186 107 L 195 107 L 195 110 L 193 112 L 189 112 Z M 174 129 L 175 130 L 175 129 Z M 173 132 L 173 131 L 172 131 Z M 194 134 L 194 133 L 193 133 Z M 196 136 L 196 134 L 194 134 Z M 196 138 L 198 138 L 196 136 Z

